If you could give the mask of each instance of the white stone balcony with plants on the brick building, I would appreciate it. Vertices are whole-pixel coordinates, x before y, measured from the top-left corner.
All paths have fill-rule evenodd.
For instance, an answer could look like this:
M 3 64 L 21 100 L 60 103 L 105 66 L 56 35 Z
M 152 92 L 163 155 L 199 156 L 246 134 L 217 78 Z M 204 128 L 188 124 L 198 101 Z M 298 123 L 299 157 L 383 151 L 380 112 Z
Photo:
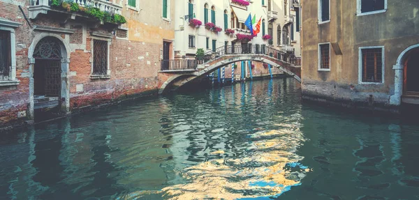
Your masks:
M 66 1 L 66 3 L 77 3 L 79 8 L 87 8 L 93 7 L 98 8 L 103 12 L 108 13 L 115 13 L 121 15 L 122 11 L 122 0 L 119 3 L 116 3 L 117 0 L 105 1 L 105 0 L 73 0 L 73 1 Z M 61 3 L 61 1 L 59 1 Z M 29 18 L 36 19 L 39 14 L 47 14 L 50 11 L 55 13 L 67 13 L 71 19 L 75 20 L 75 17 L 87 17 L 86 15 L 82 15 L 81 12 L 73 12 L 70 13 L 68 8 L 64 8 L 64 6 L 51 6 L 52 1 L 50 0 L 32 0 L 31 6 L 29 6 Z

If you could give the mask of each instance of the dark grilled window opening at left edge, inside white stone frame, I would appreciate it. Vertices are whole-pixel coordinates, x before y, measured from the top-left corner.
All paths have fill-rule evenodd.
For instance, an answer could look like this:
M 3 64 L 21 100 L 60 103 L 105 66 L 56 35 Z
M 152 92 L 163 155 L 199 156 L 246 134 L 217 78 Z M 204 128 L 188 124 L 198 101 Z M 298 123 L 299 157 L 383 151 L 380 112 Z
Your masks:
M 10 31 L 0 30 L 0 75 L 8 76 L 12 66 Z

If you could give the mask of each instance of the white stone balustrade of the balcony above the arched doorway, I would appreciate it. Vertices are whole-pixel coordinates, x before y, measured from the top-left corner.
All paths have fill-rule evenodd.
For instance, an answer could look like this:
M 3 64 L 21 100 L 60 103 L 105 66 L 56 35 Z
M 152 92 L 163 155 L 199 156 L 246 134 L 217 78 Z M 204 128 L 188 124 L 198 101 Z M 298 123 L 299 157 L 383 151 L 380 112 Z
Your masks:
M 101 11 L 116 13 L 121 15 L 122 6 L 117 3 L 112 3 L 112 1 L 105 0 L 72 0 L 75 3 L 78 3 L 79 6 L 87 7 L 92 6 L 94 8 L 99 8 Z M 51 6 L 52 1 L 50 0 L 34 0 L 31 1 L 31 6 Z M 122 1 L 119 1 L 122 3 Z

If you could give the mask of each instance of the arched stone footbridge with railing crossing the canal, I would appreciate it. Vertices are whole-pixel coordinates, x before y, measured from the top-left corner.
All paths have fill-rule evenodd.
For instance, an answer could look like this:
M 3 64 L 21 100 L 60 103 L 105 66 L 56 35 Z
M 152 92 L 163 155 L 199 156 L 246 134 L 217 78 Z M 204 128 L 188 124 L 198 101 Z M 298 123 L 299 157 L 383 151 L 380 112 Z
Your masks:
M 165 93 L 170 86 L 183 86 L 188 82 L 209 75 L 211 72 L 239 61 L 258 61 L 279 68 L 284 73 L 301 82 L 301 68 L 295 67 L 300 61 L 292 52 L 283 52 L 270 47 L 249 46 L 243 47 L 223 46 L 215 52 L 208 52 L 201 59 L 196 60 L 163 60 L 159 78 L 166 80 L 161 83 L 159 94 Z

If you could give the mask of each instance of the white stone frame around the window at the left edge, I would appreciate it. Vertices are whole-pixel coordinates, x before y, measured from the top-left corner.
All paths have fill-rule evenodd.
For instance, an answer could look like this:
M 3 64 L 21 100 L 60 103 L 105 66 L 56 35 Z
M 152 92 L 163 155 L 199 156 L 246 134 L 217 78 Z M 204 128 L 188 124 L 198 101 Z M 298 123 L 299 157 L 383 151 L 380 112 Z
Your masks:
M 11 22 L 7 20 L 0 19 L 0 30 L 8 31 L 10 34 L 10 70 L 8 74 L 8 79 L 4 79 L 5 76 L 0 75 L 0 86 L 15 86 L 20 84 L 20 81 L 16 79 L 16 38 L 15 38 L 15 29 L 17 29 L 20 23 Z

